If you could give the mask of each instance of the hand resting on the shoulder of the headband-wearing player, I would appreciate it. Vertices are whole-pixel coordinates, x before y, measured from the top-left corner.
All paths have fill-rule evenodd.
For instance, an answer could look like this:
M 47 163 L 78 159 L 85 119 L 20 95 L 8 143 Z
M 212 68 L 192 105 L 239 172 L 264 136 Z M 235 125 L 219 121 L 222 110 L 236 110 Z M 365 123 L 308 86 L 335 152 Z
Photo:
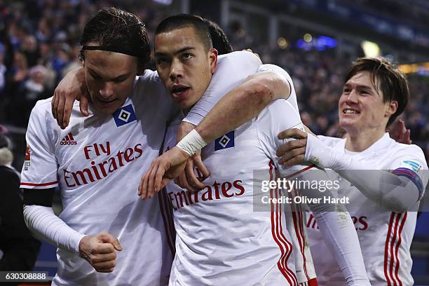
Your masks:
M 75 100 L 80 101 L 81 114 L 88 116 L 88 88 L 83 67 L 71 69 L 55 88 L 51 102 L 52 114 L 57 124 L 64 129 L 69 125 L 71 109 Z

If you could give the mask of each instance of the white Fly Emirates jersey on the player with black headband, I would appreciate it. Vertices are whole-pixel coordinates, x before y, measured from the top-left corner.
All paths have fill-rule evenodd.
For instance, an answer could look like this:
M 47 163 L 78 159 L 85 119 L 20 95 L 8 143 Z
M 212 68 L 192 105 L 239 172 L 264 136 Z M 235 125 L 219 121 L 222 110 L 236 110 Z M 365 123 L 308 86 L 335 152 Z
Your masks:
M 107 231 L 123 246 L 112 273 L 97 273 L 81 257 L 57 250 L 53 285 L 167 285 L 172 253 L 155 197 L 137 196 L 140 175 L 158 156 L 172 102 L 156 72 L 146 71 L 114 114 L 81 116 L 79 103 L 61 130 L 50 102 L 37 102 L 27 129 L 21 187 L 60 187 L 62 219 L 88 235 Z M 150 259 L 144 259 L 150 257 Z

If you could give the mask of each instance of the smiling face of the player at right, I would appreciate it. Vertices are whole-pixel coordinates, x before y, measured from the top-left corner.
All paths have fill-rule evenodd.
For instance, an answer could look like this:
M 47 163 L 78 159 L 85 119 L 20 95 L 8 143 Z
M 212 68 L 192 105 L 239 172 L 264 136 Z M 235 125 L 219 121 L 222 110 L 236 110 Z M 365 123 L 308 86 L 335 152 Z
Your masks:
M 358 72 L 344 84 L 338 105 L 340 126 L 351 135 L 367 130 L 385 132 L 397 109 L 397 102 L 383 102 L 379 82 L 374 86 L 369 71 Z

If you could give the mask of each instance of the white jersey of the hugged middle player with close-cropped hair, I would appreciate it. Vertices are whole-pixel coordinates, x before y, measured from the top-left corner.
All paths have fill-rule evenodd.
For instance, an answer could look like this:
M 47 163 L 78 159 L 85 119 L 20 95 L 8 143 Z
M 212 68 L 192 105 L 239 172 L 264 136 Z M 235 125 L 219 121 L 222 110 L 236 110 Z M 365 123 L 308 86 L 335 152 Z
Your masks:
M 254 211 L 253 179 L 255 170 L 265 170 L 258 179 L 269 180 L 308 168 L 283 168 L 275 156 L 283 142 L 278 132 L 300 125 L 294 107 L 276 100 L 202 150 L 211 172 L 203 190 L 167 186 L 177 231 L 170 285 L 298 284 L 284 206 L 268 203 L 266 211 Z M 174 146 L 175 126 L 170 126 L 165 149 Z M 281 193 L 272 189 L 267 196 Z

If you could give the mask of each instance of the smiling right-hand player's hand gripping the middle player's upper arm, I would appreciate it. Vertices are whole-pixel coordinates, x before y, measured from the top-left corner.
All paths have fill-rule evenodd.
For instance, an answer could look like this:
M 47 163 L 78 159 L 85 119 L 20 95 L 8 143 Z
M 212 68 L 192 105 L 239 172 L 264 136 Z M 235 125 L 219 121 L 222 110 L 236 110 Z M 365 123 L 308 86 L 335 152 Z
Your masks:
M 280 165 L 292 166 L 304 163 L 306 154 L 307 133 L 297 128 L 288 129 L 278 134 L 278 139 L 290 139 L 289 142 L 280 145 L 276 151 L 276 155 L 280 157 L 278 163 Z

